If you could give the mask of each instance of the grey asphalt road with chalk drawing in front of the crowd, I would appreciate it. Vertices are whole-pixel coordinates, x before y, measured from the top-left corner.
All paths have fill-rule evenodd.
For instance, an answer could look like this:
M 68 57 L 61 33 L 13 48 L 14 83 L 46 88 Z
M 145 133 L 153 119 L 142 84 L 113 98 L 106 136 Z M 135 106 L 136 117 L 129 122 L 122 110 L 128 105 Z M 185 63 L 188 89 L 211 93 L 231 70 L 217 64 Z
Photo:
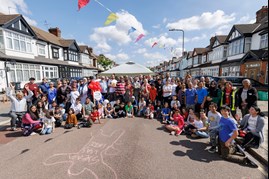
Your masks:
M 46 136 L 1 131 L 0 178 L 260 179 L 258 169 L 207 152 L 207 139 L 170 136 L 156 120 L 103 120 Z M 11 140 L 12 139 L 12 140 Z

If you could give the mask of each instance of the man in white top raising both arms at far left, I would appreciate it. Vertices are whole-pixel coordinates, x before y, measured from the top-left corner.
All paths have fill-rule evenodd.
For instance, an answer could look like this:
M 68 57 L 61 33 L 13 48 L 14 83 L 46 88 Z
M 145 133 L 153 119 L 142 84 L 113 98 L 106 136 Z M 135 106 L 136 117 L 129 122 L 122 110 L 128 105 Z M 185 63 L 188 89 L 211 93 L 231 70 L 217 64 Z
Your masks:
M 11 130 L 15 131 L 17 118 L 22 118 L 22 116 L 27 112 L 27 100 L 31 99 L 34 93 L 29 89 L 29 86 L 25 85 L 24 88 L 28 92 L 28 96 L 24 96 L 24 94 L 19 91 L 16 93 L 15 98 L 12 95 L 15 87 L 10 85 L 10 88 L 10 91 L 7 91 L 7 97 L 9 97 L 11 101 L 10 126 Z

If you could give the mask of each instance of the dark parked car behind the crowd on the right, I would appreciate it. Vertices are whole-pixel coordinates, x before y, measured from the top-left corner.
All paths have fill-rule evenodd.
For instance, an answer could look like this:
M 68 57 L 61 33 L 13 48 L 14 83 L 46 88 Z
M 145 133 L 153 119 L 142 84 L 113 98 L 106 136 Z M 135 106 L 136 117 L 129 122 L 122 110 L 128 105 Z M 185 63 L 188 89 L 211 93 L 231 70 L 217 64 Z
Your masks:
M 218 82 L 220 79 L 225 78 L 227 81 L 231 81 L 233 83 L 233 86 L 235 87 L 241 87 L 242 86 L 242 81 L 244 79 L 249 79 L 251 82 L 251 85 L 257 89 L 257 91 L 268 91 L 268 84 L 263 84 L 257 80 L 243 77 L 243 76 L 219 76 L 219 77 L 214 77 L 215 81 Z

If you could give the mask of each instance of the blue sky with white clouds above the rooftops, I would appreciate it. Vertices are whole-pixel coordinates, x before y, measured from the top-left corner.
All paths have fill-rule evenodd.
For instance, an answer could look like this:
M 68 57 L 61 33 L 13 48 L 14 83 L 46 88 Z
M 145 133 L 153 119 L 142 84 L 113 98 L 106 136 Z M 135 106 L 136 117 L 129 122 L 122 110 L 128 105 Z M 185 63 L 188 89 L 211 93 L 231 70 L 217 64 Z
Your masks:
M 58 27 L 62 38 L 88 45 L 118 64 L 133 61 L 148 67 L 169 61 L 184 50 L 204 48 L 215 35 L 227 35 L 234 24 L 255 22 L 266 0 L 90 0 L 78 11 L 78 0 L 0 0 L 0 12 L 22 14 L 40 29 Z M 118 19 L 105 26 L 109 14 Z M 136 30 L 128 35 L 128 30 Z M 136 38 L 145 36 L 138 42 Z M 152 45 L 157 43 L 154 47 Z

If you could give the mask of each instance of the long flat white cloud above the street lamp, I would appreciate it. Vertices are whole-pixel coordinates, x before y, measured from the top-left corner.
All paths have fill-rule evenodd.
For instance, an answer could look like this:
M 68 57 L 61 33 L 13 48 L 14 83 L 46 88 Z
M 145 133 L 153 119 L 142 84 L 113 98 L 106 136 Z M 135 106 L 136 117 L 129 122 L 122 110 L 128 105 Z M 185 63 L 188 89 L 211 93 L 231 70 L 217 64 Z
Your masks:
M 177 22 L 168 23 L 166 27 L 169 29 L 180 28 L 183 30 L 212 29 L 224 24 L 229 24 L 234 20 L 234 13 L 226 15 L 222 10 L 217 10 L 214 13 L 204 12 L 200 16 L 180 19 Z

